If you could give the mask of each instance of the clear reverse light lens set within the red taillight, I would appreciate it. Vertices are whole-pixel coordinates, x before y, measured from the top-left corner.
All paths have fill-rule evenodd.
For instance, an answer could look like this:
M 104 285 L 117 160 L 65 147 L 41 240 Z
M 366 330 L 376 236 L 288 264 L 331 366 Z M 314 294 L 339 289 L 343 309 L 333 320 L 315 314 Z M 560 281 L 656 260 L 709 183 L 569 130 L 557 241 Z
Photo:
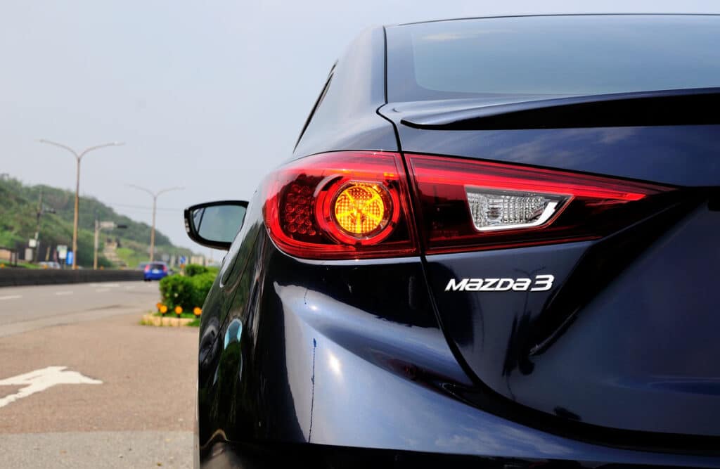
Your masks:
M 465 187 L 477 231 L 531 228 L 546 223 L 569 196 Z

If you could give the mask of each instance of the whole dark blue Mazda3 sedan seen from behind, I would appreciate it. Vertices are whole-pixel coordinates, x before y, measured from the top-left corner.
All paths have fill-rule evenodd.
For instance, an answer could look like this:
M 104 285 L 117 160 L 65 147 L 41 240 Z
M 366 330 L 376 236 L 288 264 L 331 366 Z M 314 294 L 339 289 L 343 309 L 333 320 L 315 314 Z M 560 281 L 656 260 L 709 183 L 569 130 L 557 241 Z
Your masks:
M 199 463 L 719 467 L 719 46 L 702 15 L 360 35 L 252 200 L 186 210 L 228 249 Z

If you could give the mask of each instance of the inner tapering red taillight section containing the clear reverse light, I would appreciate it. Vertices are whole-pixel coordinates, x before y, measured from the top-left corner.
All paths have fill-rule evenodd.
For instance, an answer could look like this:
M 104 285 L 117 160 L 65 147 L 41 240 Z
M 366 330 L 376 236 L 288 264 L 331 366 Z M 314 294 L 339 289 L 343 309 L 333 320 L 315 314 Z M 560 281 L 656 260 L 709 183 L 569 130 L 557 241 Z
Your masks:
M 669 188 L 567 171 L 406 155 L 428 254 L 600 238 Z

